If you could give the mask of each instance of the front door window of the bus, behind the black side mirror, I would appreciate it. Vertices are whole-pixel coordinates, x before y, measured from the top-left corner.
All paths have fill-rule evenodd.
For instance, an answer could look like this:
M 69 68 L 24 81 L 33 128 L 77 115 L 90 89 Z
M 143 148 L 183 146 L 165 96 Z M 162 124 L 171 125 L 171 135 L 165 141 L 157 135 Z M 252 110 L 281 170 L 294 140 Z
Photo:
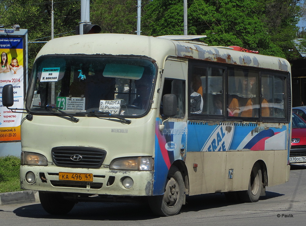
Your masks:
M 174 94 L 177 98 L 177 113 L 174 117 L 183 118 L 185 116 L 185 81 L 178 79 L 165 79 L 162 97 L 165 94 Z M 160 115 L 163 115 L 162 102 Z

